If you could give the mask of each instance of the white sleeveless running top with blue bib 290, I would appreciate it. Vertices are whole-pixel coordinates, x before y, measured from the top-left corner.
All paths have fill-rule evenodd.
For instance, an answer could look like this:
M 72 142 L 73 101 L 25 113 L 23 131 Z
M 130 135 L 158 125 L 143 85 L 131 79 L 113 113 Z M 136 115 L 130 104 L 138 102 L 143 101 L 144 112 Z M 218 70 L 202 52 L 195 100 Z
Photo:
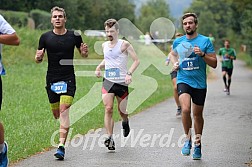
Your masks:
M 121 51 L 123 42 L 123 40 L 119 39 L 113 48 L 109 47 L 109 41 L 103 45 L 105 60 L 104 78 L 114 83 L 125 83 L 128 55 Z

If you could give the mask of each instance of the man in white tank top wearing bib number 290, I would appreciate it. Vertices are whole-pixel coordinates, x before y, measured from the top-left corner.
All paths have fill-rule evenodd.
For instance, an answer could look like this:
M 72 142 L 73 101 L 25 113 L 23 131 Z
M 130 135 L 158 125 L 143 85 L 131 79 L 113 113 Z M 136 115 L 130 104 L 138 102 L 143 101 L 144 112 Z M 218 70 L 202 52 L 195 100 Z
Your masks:
M 96 67 L 95 75 L 101 77 L 101 68 L 105 68 L 102 86 L 102 100 L 105 106 L 104 124 L 108 134 L 104 144 L 109 150 L 115 150 L 115 142 L 112 138 L 114 121 L 113 105 L 116 97 L 118 111 L 122 117 L 123 136 L 130 132 L 128 113 L 128 84 L 131 83 L 131 75 L 139 65 L 139 60 L 134 48 L 128 41 L 118 39 L 119 25 L 115 19 L 108 19 L 104 23 L 108 41 L 103 43 L 103 61 Z M 127 70 L 128 55 L 133 63 Z

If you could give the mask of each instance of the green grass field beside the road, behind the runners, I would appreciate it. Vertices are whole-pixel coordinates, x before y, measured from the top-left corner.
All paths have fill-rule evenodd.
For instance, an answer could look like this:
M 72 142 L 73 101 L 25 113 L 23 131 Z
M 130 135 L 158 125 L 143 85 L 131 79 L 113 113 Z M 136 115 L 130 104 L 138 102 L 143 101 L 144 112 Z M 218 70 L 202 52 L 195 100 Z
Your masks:
M 0 118 L 5 127 L 5 140 L 9 144 L 8 155 L 11 162 L 50 149 L 52 147 L 51 136 L 59 127 L 59 121 L 54 120 L 50 111 L 44 88 L 47 61 L 45 60 L 41 64 L 34 62 L 38 39 L 42 32 L 18 29 L 17 33 L 21 38 L 20 46 L 4 46 L 2 55 L 7 75 L 2 76 L 3 105 Z M 101 57 L 93 51 L 95 40 L 85 37 L 85 41 L 90 48 L 88 59 Z M 143 47 L 143 54 L 152 52 L 150 48 Z M 76 58 L 81 57 L 76 54 Z M 164 64 L 164 60 L 165 57 L 162 58 L 161 64 Z M 93 71 L 95 67 L 94 65 L 76 66 L 75 69 Z M 168 67 L 165 68 L 167 68 L 167 71 L 170 70 Z M 143 111 L 172 96 L 170 76 L 160 73 L 153 65 L 148 66 L 143 74 L 155 78 L 158 88 L 132 114 Z M 101 79 L 95 76 L 77 77 L 76 80 L 77 91 L 74 103 L 85 96 L 95 82 L 101 82 Z M 83 104 L 83 107 L 85 107 L 85 104 Z M 115 120 L 120 120 L 117 111 L 114 113 Z M 104 107 L 100 103 L 71 126 L 73 129 L 71 136 L 85 134 L 90 129 L 103 127 L 103 114 Z

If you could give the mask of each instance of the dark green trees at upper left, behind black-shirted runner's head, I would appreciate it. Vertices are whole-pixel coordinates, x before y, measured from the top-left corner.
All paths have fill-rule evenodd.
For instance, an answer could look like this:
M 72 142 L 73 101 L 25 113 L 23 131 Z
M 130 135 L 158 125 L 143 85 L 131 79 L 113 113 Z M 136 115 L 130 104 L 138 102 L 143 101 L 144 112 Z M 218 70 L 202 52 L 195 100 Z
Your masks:
M 134 4 L 129 0 L 0 0 L 0 9 L 30 12 L 34 9 L 50 13 L 54 6 L 63 7 L 67 13 L 69 29 L 103 29 L 108 18 L 135 19 Z M 50 20 L 48 20 L 50 22 Z

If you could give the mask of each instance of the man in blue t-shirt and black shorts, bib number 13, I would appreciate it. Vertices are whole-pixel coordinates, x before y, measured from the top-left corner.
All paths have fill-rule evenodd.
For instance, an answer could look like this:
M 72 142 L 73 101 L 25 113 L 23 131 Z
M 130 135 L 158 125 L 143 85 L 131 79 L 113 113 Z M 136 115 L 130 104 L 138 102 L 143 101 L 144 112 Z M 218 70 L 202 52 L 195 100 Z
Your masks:
M 206 65 L 216 68 L 217 58 L 209 38 L 196 32 L 198 28 L 196 14 L 184 14 L 182 25 L 186 35 L 173 42 L 173 50 L 169 53 L 171 62 L 174 64 L 173 69 L 178 71 L 177 89 L 182 108 L 182 123 L 186 134 L 182 154 L 190 155 L 192 147 L 190 133 L 192 107 L 196 136 L 193 159 L 200 159 L 201 135 L 204 125 L 203 108 L 207 92 Z

